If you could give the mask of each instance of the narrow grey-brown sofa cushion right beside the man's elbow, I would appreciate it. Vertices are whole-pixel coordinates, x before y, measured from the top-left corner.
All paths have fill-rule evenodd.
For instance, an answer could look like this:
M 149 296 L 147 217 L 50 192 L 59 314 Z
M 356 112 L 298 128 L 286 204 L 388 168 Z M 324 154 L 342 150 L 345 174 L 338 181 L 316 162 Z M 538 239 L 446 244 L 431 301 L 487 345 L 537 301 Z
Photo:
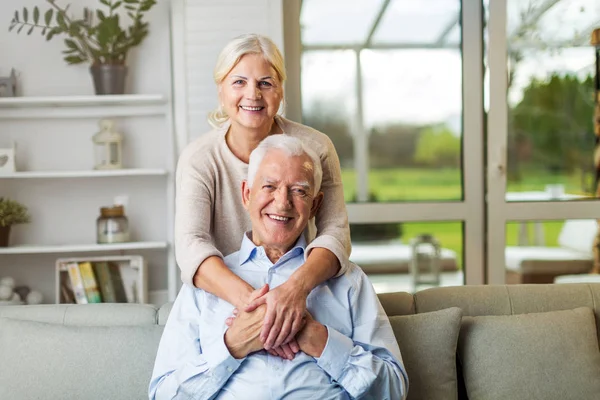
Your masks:
M 457 398 L 456 345 L 461 316 L 461 309 L 453 307 L 390 317 L 408 374 L 408 399 Z

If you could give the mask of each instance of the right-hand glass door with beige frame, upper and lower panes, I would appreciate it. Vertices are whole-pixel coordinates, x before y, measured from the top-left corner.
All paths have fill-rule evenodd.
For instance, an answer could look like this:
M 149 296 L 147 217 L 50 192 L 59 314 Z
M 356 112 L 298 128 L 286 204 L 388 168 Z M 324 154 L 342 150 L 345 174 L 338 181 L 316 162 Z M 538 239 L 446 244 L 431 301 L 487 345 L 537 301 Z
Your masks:
M 590 272 L 599 216 L 590 37 L 600 3 L 485 6 L 489 280 L 544 283 Z

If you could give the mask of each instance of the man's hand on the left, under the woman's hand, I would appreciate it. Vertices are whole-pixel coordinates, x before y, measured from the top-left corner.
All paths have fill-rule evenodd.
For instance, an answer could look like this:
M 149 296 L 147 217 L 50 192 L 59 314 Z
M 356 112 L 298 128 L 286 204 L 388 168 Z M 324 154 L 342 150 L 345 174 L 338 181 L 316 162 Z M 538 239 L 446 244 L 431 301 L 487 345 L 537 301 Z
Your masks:
M 263 349 L 259 334 L 267 306 L 259 306 L 252 312 L 241 312 L 233 319 L 225 332 L 225 345 L 234 358 L 240 359 Z

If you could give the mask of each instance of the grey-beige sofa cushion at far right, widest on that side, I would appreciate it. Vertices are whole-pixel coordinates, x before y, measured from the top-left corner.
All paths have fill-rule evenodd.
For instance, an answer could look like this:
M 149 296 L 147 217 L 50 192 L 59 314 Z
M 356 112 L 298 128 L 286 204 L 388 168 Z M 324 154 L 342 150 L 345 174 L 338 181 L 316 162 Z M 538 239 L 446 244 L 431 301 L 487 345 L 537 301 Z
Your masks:
M 592 310 L 464 317 L 459 359 L 470 400 L 598 399 Z

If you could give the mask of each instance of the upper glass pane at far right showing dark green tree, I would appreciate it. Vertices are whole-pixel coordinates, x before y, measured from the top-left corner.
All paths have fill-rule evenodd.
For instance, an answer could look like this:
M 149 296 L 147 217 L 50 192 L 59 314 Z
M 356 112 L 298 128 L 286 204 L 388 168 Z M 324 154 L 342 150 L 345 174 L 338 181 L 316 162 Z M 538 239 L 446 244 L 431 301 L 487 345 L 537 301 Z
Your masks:
M 589 196 L 595 139 L 589 38 L 600 3 L 509 0 L 507 7 L 506 198 Z

